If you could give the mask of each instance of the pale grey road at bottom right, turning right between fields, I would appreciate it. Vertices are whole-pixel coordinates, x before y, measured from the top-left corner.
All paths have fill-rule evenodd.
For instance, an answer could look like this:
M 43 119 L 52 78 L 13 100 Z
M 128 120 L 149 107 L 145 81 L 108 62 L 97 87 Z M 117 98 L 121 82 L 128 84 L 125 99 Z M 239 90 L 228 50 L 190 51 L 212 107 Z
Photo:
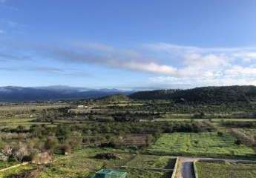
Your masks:
M 251 160 L 241 160 L 241 159 L 215 159 L 215 158 L 200 158 L 200 157 L 180 157 L 180 166 L 177 170 L 176 178 L 194 178 L 193 173 L 193 162 L 199 159 L 206 160 L 223 160 L 226 162 L 238 162 L 238 161 L 250 161 Z

